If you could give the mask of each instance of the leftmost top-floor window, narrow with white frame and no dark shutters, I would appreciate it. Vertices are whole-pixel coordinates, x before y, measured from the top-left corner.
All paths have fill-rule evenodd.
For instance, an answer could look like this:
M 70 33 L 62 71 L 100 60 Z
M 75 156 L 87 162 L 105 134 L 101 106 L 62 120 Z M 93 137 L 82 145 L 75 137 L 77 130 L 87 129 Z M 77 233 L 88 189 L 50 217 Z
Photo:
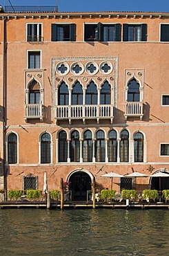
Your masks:
M 27 42 L 42 41 L 42 24 L 27 24 Z

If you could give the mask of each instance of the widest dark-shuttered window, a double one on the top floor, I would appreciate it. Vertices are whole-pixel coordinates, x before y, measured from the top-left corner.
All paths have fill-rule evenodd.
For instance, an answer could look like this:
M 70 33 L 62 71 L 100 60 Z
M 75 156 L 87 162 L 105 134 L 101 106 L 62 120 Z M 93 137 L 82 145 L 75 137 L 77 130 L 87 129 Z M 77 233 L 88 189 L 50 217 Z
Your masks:
M 121 24 L 85 24 L 84 41 L 120 42 Z

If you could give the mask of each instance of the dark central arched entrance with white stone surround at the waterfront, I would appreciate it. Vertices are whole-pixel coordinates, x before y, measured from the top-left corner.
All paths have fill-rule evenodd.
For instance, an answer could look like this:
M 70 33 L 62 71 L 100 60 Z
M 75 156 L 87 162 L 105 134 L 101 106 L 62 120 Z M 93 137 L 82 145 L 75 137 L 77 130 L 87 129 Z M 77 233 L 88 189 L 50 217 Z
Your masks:
M 75 172 L 69 179 L 72 201 L 87 201 L 87 190 L 91 190 L 91 179 L 86 172 Z

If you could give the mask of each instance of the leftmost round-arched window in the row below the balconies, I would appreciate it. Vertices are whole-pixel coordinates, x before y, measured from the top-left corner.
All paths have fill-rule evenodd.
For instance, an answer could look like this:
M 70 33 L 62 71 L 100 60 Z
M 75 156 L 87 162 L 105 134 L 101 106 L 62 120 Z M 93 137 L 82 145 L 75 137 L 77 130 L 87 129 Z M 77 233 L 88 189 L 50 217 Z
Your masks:
M 8 163 L 17 163 L 17 135 L 8 136 Z

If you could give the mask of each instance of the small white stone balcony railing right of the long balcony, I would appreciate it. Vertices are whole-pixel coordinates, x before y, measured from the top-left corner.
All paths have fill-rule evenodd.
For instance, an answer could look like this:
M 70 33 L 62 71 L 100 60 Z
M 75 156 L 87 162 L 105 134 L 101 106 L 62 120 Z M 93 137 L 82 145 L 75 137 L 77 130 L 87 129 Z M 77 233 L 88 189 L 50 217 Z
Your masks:
M 142 120 L 143 102 L 125 102 L 124 109 L 125 109 L 124 116 L 126 119 L 128 117 L 138 116 Z

